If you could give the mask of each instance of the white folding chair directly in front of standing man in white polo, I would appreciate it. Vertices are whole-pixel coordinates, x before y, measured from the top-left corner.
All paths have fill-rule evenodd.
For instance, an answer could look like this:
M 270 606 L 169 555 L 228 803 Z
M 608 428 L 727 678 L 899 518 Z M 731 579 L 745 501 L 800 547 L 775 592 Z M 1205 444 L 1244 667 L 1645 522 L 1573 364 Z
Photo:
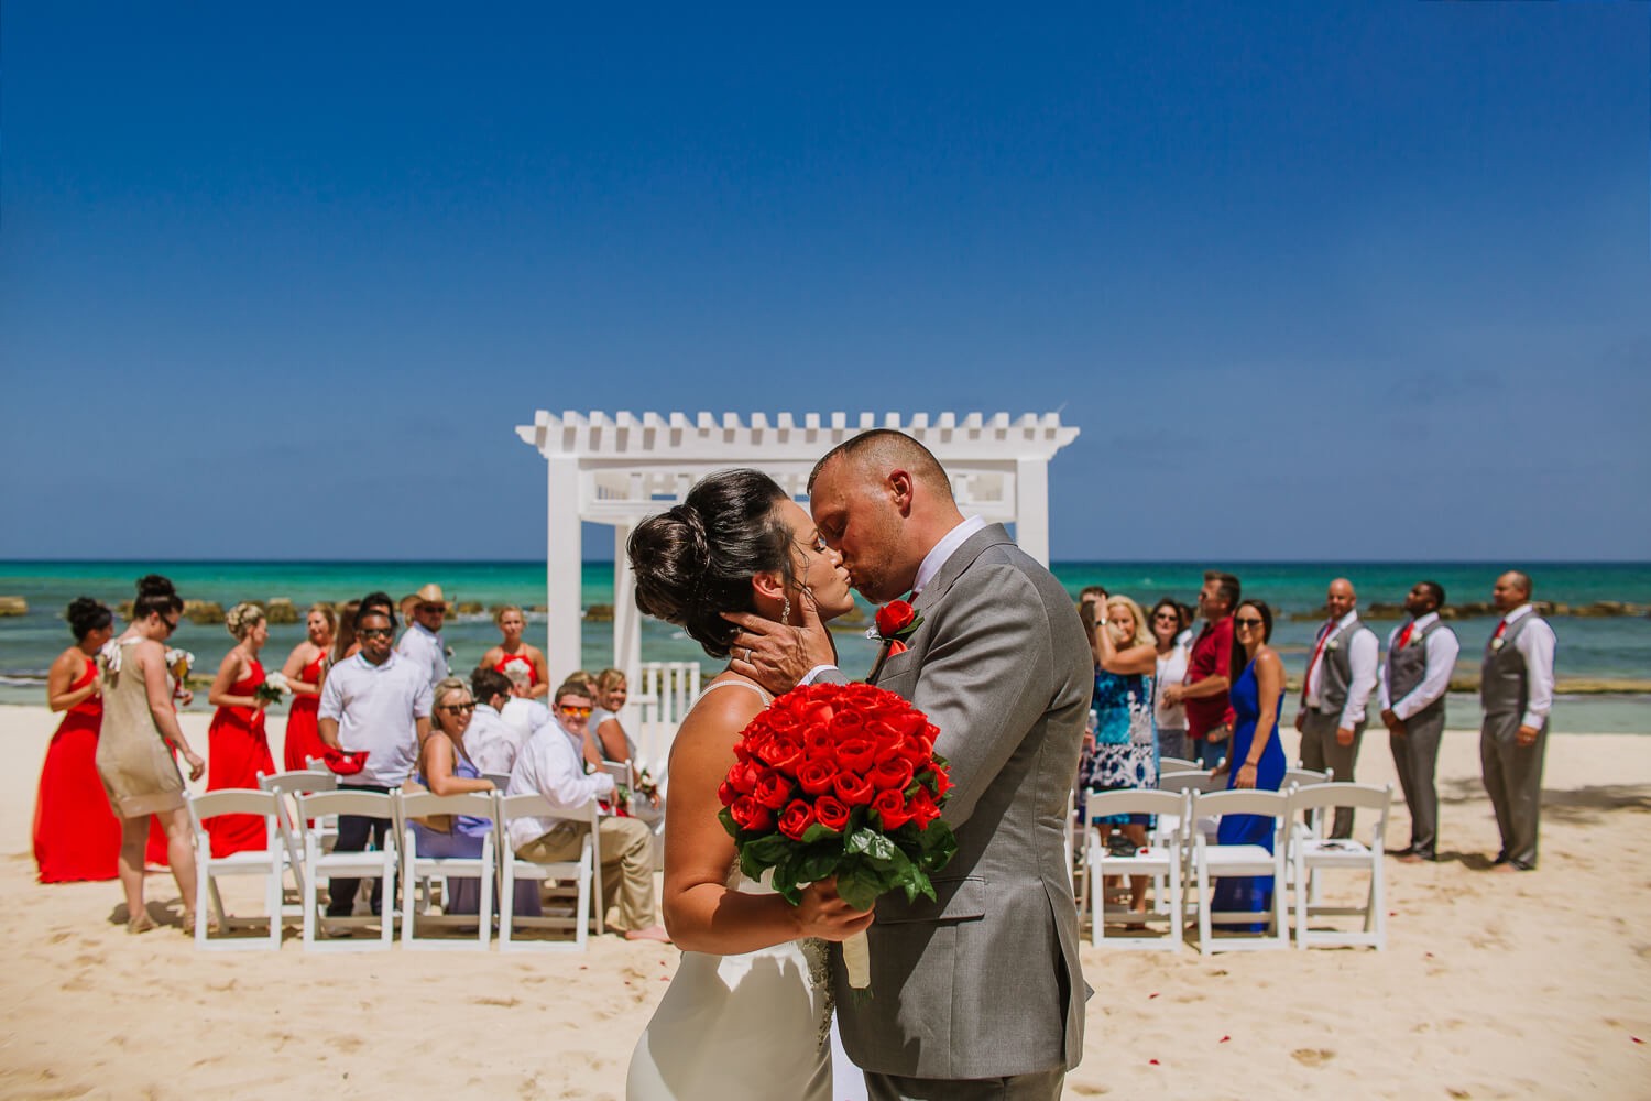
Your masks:
M 304 829 L 304 951 L 368 951 L 388 949 L 395 944 L 396 913 L 396 863 L 398 843 L 396 830 L 385 832 L 385 847 L 380 852 L 367 848 L 363 852 L 322 850 L 322 822 L 338 814 L 358 814 L 370 819 L 388 819 L 395 822 L 395 801 L 376 791 L 355 791 L 338 787 L 337 791 L 317 791 L 299 794 L 299 820 L 310 820 Z M 378 939 L 317 939 L 315 928 L 320 924 L 320 883 L 335 878 L 383 881 L 383 914 L 380 918 L 327 918 L 329 926 L 368 926 L 378 923 Z M 355 900 L 350 900 L 355 901 Z

